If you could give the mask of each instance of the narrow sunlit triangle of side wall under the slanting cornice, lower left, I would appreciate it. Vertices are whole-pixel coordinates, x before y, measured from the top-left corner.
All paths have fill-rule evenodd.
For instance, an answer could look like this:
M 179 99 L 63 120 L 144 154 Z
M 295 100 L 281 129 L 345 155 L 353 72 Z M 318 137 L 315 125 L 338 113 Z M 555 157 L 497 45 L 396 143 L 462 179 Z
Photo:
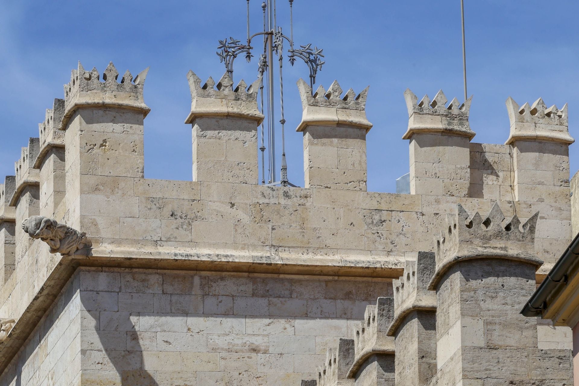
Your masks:
M 74 275 L 2 373 L 0 385 L 80 385 L 81 308 Z

